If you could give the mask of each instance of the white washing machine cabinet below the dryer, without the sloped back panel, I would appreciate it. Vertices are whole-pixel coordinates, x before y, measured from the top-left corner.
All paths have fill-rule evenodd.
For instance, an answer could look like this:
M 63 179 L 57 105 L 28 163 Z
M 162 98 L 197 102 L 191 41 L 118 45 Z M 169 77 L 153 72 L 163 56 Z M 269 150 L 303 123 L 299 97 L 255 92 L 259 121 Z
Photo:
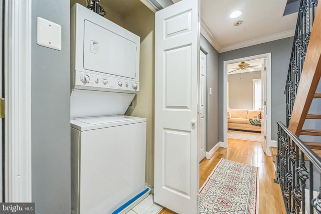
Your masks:
M 72 210 L 112 213 L 145 190 L 146 119 L 71 120 Z

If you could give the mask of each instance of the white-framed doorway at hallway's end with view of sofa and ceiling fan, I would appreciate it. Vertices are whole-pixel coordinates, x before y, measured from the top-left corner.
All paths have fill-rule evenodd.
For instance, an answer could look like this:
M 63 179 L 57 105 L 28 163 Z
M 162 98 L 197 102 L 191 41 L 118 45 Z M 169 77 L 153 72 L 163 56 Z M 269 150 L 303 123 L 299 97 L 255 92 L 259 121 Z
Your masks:
M 224 142 L 221 146 L 227 147 L 227 138 L 229 134 L 231 135 L 228 133 L 229 129 L 231 132 L 239 131 L 240 133 L 242 131 L 240 135 L 249 134 L 247 137 L 251 136 L 252 132 L 253 141 L 261 138 L 264 152 L 270 155 L 271 53 L 224 61 L 223 84 Z M 259 91 L 259 86 L 264 86 L 261 91 Z M 259 93 L 261 96 L 258 96 Z M 265 100 L 262 100 L 263 97 Z M 258 102 L 262 103 L 260 108 L 258 108 Z M 232 116 L 231 113 L 236 115 L 235 123 L 233 120 L 229 120 L 231 122 L 228 123 L 228 117 Z M 253 125 L 256 124 L 256 119 L 260 119 L 261 124 Z M 262 136 L 260 136 L 261 133 Z

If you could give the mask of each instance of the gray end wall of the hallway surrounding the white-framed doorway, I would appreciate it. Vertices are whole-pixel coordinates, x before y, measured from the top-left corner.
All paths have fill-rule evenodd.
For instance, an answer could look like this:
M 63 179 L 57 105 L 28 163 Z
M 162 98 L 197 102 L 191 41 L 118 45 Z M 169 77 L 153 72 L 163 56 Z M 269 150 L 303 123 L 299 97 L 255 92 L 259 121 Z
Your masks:
M 219 54 L 220 124 L 223 124 L 223 62 L 259 54 L 272 53 L 272 140 L 277 139 L 276 121 L 279 120 L 284 124 L 286 121 L 284 87 L 289 67 L 292 44 L 293 37 L 289 37 Z M 223 126 L 219 126 L 219 133 L 220 141 L 223 141 Z

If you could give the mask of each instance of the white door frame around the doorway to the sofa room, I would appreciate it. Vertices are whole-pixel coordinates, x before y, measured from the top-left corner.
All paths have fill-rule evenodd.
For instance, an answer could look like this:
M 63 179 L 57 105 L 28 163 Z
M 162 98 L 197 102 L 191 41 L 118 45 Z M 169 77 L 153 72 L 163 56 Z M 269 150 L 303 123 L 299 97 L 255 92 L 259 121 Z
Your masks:
M 267 124 L 266 124 L 266 150 L 265 153 L 271 156 L 269 147 L 272 146 L 271 132 L 271 91 L 272 91 L 272 58 L 271 53 L 243 57 L 239 59 L 227 60 L 223 62 L 223 115 L 227 115 L 227 65 L 231 63 L 244 62 L 248 60 L 266 58 L 266 108 L 267 108 Z M 223 116 L 223 142 L 221 147 L 227 148 L 227 116 Z

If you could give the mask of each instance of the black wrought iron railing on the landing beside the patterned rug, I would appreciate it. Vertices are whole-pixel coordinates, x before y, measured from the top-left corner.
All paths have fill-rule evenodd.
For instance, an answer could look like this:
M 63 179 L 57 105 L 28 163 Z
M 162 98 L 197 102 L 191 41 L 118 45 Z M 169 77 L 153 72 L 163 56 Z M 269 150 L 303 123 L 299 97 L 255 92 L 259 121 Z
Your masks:
M 280 187 L 287 213 L 305 213 L 307 199 L 310 201 L 309 212 L 321 214 L 321 194 L 313 198 L 313 170 L 317 169 L 321 179 L 321 158 L 280 122 L 278 122 L 277 134 L 280 156 L 278 158 L 281 160 L 278 163 L 280 170 L 277 173 L 282 177 Z M 309 161 L 309 170 L 306 167 L 306 157 Z M 309 179 L 309 194 L 305 195 L 307 179 Z M 319 190 L 321 191 L 321 186 Z

